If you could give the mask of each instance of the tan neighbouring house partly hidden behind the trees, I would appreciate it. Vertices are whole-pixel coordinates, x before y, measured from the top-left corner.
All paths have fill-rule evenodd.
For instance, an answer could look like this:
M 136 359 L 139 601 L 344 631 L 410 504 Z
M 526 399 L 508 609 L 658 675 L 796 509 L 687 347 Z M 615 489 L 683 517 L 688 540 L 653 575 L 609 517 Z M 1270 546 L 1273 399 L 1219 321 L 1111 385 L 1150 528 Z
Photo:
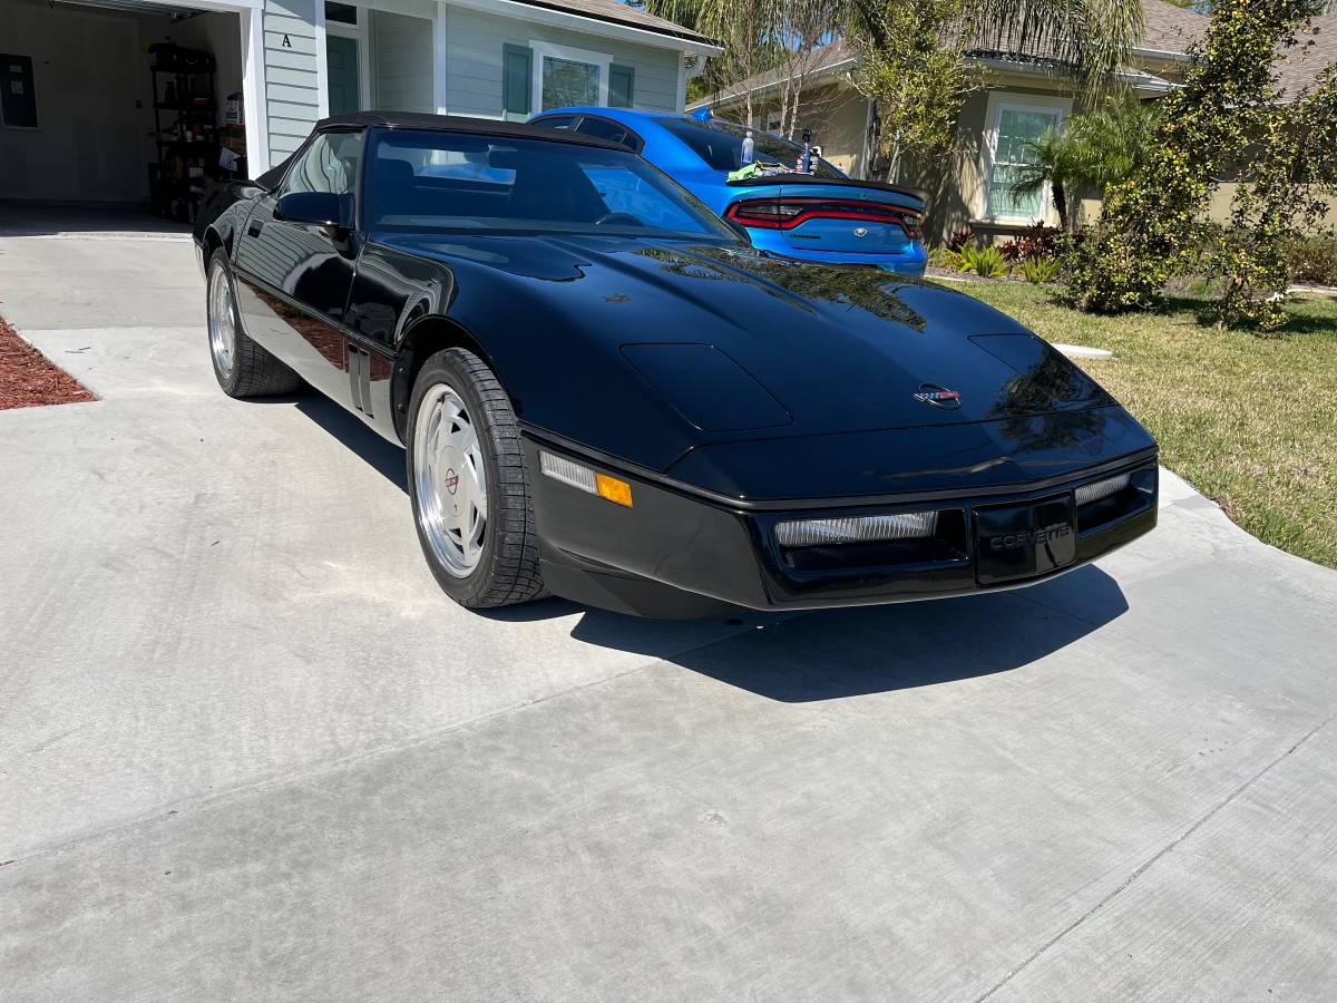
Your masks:
M 1183 79 L 1189 45 L 1206 32 L 1207 19 L 1162 0 L 1143 0 L 1143 19 L 1142 41 L 1122 76 L 1138 95 L 1155 99 Z M 988 71 L 985 86 L 967 95 L 945 163 L 902 163 L 897 178 L 929 191 L 925 235 L 929 242 L 941 242 L 969 226 L 991 239 L 1012 235 L 1038 219 L 1056 225 L 1048 193 L 1017 197 L 1011 191 L 1012 179 L 1027 156 L 1027 142 L 1047 128 L 1062 130 L 1080 110 L 1079 94 L 1063 68 L 1043 56 L 1023 60 L 976 49 L 967 59 Z M 797 123 L 813 131 L 813 142 L 826 159 L 866 178 L 877 175 L 880 164 L 873 163 L 870 148 L 873 108 L 852 84 L 856 60 L 844 41 L 828 47 L 805 80 Z M 767 128 L 779 119 L 783 90 L 781 74 L 761 74 L 691 107 L 745 119 L 750 96 L 751 124 Z M 1090 217 L 1098 207 L 1098 202 L 1086 201 L 1079 211 Z

